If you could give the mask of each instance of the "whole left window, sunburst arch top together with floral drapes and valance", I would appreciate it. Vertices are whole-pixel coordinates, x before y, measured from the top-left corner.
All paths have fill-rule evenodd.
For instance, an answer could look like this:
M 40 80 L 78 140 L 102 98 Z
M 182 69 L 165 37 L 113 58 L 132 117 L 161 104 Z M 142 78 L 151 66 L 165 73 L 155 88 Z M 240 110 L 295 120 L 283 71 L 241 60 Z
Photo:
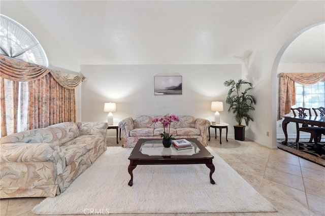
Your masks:
M 3 15 L 0 22 L 1 136 L 75 122 L 75 88 L 85 78 L 49 69 L 43 48 L 25 27 Z

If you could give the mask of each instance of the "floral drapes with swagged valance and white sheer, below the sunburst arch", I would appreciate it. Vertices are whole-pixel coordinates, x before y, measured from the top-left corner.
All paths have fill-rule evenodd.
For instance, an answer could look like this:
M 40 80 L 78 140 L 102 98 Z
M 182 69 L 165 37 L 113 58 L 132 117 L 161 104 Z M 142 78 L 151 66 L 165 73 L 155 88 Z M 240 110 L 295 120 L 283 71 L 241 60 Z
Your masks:
M 1 136 L 76 121 L 75 88 L 84 81 L 0 55 Z

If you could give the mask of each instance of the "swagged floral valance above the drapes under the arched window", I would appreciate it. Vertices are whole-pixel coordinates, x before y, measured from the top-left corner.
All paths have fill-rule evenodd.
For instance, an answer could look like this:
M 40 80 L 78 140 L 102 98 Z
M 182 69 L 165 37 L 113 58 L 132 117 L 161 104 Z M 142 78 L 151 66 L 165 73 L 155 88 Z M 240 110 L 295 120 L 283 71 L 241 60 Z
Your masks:
M 0 77 L 17 81 L 30 82 L 40 79 L 51 73 L 61 86 L 67 89 L 76 88 L 85 77 L 67 74 L 62 71 L 52 70 L 44 66 L 21 61 L 5 55 L 0 55 Z

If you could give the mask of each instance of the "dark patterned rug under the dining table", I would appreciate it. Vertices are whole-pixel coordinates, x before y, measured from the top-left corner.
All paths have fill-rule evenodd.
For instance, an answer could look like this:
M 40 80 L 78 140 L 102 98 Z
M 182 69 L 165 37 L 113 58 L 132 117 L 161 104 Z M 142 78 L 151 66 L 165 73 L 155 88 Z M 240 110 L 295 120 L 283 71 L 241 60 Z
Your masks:
M 279 149 L 297 155 L 301 158 L 317 163 L 325 167 L 325 142 L 318 142 L 318 148 L 314 148 L 313 142 L 301 141 L 299 142 L 299 148 L 297 149 L 297 143 L 295 141 L 289 141 L 286 145 L 282 145 L 278 141 L 277 146 Z

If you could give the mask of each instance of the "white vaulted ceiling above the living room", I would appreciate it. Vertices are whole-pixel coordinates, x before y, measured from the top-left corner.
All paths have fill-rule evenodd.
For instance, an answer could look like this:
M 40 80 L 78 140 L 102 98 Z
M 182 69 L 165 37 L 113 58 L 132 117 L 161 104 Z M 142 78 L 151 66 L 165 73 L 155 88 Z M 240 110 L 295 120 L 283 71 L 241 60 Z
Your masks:
M 23 4 L 81 64 L 227 64 L 240 63 L 296 1 Z

